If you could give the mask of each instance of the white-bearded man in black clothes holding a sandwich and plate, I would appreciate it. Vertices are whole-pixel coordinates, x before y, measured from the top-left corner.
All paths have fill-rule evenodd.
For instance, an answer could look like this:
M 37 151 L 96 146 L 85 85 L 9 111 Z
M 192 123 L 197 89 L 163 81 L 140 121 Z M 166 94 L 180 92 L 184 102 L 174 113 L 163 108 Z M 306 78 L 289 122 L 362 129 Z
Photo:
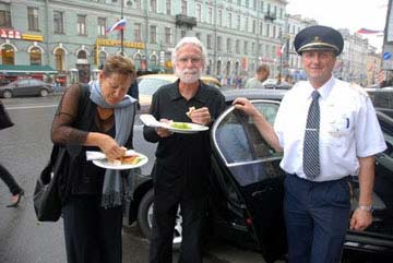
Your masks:
M 219 89 L 200 81 L 206 50 L 196 37 L 184 37 L 175 47 L 172 64 L 179 77 L 153 95 L 150 113 L 159 121 L 212 125 L 225 108 Z M 189 108 L 194 107 L 188 116 Z M 182 216 L 179 262 L 201 263 L 201 232 L 210 189 L 210 132 L 172 133 L 143 128 L 146 141 L 157 143 L 154 179 L 153 231 L 150 263 L 172 263 L 172 238 L 178 207 Z

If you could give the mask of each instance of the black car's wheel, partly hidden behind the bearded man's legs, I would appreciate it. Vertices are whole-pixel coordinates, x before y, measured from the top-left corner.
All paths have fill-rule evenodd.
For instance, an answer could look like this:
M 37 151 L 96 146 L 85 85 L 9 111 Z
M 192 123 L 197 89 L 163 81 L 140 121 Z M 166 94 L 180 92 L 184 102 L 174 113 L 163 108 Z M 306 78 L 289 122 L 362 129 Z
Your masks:
M 152 227 L 153 227 L 153 203 L 154 201 L 154 190 L 148 190 L 145 195 L 142 198 L 141 203 L 138 208 L 138 225 L 142 230 L 142 234 L 151 239 L 152 238 Z M 174 250 L 180 249 L 182 240 L 182 218 L 180 215 L 180 208 L 177 212 L 175 231 L 174 231 Z

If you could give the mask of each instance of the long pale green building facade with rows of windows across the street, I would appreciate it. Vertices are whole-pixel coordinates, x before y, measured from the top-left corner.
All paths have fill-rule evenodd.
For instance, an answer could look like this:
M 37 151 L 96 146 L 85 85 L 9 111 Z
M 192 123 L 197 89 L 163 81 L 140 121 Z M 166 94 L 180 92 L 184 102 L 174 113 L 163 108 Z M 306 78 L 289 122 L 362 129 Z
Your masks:
M 88 82 L 106 57 L 123 53 L 141 71 L 171 72 L 176 43 L 196 36 L 207 49 L 206 74 L 223 83 L 253 75 L 260 63 L 271 67 L 271 77 L 303 79 L 293 40 L 317 22 L 288 15 L 286 4 L 285 0 L 0 0 L 0 64 L 50 65 L 68 83 Z M 126 19 L 123 32 L 107 32 L 120 19 Z M 358 60 L 365 57 L 358 53 L 367 55 L 367 45 L 346 43 L 345 67 L 338 71 L 343 79 L 366 79 L 359 72 L 367 62 Z

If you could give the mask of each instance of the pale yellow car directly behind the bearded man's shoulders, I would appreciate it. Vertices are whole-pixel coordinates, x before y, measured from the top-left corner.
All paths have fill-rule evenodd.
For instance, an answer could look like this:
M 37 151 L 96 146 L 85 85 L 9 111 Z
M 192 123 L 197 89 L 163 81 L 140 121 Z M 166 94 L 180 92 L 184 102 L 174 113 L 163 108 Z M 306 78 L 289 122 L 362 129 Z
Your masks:
M 148 74 L 139 76 L 139 96 L 141 105 L 141 113 L 146 113 L 148 111 L 150 105 L 152 103 L 153 94 L 158 89 L 158 87 L 172 83 L 178 77 L 175 74 Z M 213 76 L 202 76 L 201 80 L 210 85 L 219 87 L 221 84 L 217 79 Z

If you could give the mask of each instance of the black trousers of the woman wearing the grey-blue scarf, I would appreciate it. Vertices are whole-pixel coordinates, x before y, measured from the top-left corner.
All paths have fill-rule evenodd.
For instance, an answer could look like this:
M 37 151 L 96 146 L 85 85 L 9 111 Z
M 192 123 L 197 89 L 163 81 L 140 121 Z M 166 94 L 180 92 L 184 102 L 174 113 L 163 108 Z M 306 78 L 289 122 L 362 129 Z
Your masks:
M 71 195 L 62 210 L 68 263 L 121 263 L 122 208 L 100 199 Z

